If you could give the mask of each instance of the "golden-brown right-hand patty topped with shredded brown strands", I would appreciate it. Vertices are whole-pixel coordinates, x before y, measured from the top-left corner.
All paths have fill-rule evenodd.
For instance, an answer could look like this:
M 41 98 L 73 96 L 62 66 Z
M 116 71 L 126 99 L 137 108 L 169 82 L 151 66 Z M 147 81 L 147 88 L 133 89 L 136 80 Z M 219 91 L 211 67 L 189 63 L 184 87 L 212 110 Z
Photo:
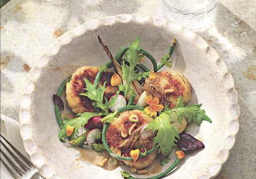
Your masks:
M 157 72 L 156 78 L 153 79 L 146 78 L 144 90 L 153 98 L 158 97 L 159 104 L 169 103 L 170 109 L 176 107 L 180 95 L 185 103 L 191 98 L 191 88 L 187 78 L 173 70 Z

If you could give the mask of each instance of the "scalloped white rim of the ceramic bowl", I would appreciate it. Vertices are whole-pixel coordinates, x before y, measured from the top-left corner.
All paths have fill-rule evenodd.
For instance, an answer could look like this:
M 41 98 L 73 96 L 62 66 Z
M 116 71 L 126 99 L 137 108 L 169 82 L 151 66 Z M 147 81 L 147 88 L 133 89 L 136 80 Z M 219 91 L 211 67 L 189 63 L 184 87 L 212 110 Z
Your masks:
M 44 67 L 48 61 L 50 56 L 54 56 L 58 53 L 58 50 L 61 48 L 62 45 L 66 45 L 71 42 L 73 37 L 79 36 L 81 34 L 84 34 L 87 30 L 90 29 L 95 29 L 98 27 L 100 24 L 112 24 L 115 23 L 116 21 L 127 23 L 130 21 L 135 20 L 138 23 L 143 23 L 146 21 L 151 21 L 154 23 L 154 25 L 162 25 L 164 23 L 169 23 L 170 21 L 165 20 L 160 17 L 153 17 L 153 16 L 147 16 L 143 14 L 120 14 L 116 16 L 107 16 L 103 17 L 100 19 L 94 19 L 90 20 L 84 24 L 79 25 L 78 27 L 72 29 L 71 31 L 63 34 L 60 36 L 57 41 L 50 46 L 50 48 L 47 50 L 47 52 L 40 56 L 36 63 L 35 66 L 31 69 L 28 80 L 26 81 L 25 87 L 23 89 L 23 94 L 20 99 L 20 111 L 19 111 L 19 120 L 20 120 L 20 135 L 22 136 L 23 143 L 24 143 L 24 148 L 26 152 L 29 154 L 31 161 L 34 163 L 34 165 L 39 169 L 41 172 L 42 176 L 46 178 L 52 178 L 53 176 L 59 176 L 60 175 L 56 174 L 54 172 L 54 169 L 49 165 L 45 163 L 44 159 L 44 154 L 41 154 L 40 151 L 38 151 L 38 146 L 36 145 L 34 139 L 33 139 L 33 128 L 29 125 L 30 120 L 33 120 L 33 116 L 31 115 L 31 105 L 32 105 L 32 93 L 35 88 L 36 81 L 40 77 L 41 73 L 41 68 Z M 175 22 L 171 22 L 173 24 L 176 24 Z M 189 32 L 190 38 L 194 40 L 194 38 L 199 37 L 197 36 L 194 32 L 182 27 L 179 24 L 176 24 L 176 28 L 182 29 L 183 32 Z M 186 35 L 187 36 L 187 35 Z M 196 41 L 196 40 L 195 40 Z M 204 41 L 204 40 L 203 40 Z M 207 43 L 204 41 L 206 45 Z M 209 48 L 209 45 L 206 45 L 207 48 Z M 207 49 L 205 49 L 207 51 Z M 216 51 L 212 48 L 210 50 L 211 53 L 216 53 Z M 217 54 L 217 53 L 216 53 Z M 229 156 L 229 150 L 233 147 L 236 135 L 239 130 L 239 116 L 240 116 L 240 107 L 239 107 L 239 100 L 238 100 L 238 93 L 236 88 L 234 87 L 233 79 L 230 73 L 228 72 L 227 66 L 225 62 L 219 58 L 218 54 L 216 58 L 214 59 L 216 61 L 216 65 L 222 69 L 222 71 L 225 71 L 223 74 L 223 81 L 227 83 L 227 88 L 232 96 L 230 96 L 231 100 L 231 105 L 230 105 L 230 117 L 229 117 L 229 129 L 228 129 L 228 134 L 226 138 L 231 139 L 229 142 L 227 142 L 222 145 L 222 148 L 220 148 L 219 153 L 217 154 L 218 161 L 217 163 L 212 164 L 208 168 L 208 173 L 207 175 L 203 174 L 199 176 L 198 178 L 212 178 L 218 175 L 218 173 L 221 171 L 222 166 L 224 163 L 227 161 L 227 158 Z M 230 82 L 231 81 L 231 82 Z M 231 85 L 230 85 L 231 84 Z

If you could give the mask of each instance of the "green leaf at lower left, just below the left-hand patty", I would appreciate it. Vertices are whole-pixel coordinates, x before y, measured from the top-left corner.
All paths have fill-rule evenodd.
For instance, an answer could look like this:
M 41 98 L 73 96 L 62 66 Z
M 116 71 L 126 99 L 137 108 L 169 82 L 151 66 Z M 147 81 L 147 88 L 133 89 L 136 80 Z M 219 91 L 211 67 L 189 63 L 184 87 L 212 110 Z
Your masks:
M 70 140 L 73 140 L 75 138 L 75 135 L 76 133 L 78 133 L 79 131 L 79 127 L 80 126 L 84 126 L 84 124 L 86 124 L 88 122 L 88 120 L 94 116 L 101 116 L 102 113 L 89 113 L 89 112 L 86 112 L 86 113 L 83 113 L 83 114 L 80 114 L 78 113 L 76 116 L 76 118 L 74 119 L 64 119 L 63 120 L 63 124 L 64 125 L 61 125 L 59 126 L 59 128 L 61 129 L 61 131 L 59 132 L 59 140 L 61 142 L 65 142 L 65 139 L 68 138 L 68 135 L 67 135 L 67 132 L 66 132 L 66 127 L 68 125 L 70 126 L 73 126 L 74 127 L 74 132 L 71 134 L 70 136 Z

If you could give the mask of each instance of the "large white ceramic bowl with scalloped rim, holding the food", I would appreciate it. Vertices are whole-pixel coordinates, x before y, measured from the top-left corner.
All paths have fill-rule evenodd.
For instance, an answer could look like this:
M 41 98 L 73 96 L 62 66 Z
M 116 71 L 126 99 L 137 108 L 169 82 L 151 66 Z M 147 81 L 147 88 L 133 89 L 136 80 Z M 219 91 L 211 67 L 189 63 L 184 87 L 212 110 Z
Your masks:
M 177 38 L 171 59 L 173 70 L 187 77 L 192 87 L 189 103 L 202 103 L 202 109 L 212 123 L 204 121 L 201 126 L 190 125 L 187 133 L 202 140 L 205 148 L 189 153 L 166 178 L 216 176 L 226 162 L 239 130 L 238 95 L 225 63 L 201 37 L 179 24 L 158 17 L 127 14 L 90 20 L 63 34 L 31 69 L 20 103 L 20 134 L 42 176 L 106 179 L 122 178 L 120 170 L 129 171 L 124 166 L 107 171 L 82 161 L 79 149 L 58 139 L 60 130 L 52 96 L 78 67 L 100 66 L 109 61 L 98 42 L 98 35 L 113 55 L 119 52 L 120 46 L 129 46 L 140 36 L 140 46 L 150 52 L 158 64 L 167 54 L 173 38 Z M 152 68 L 149 62 L 145 63 Z M 62 97 L 65 99 L 65 95 Z

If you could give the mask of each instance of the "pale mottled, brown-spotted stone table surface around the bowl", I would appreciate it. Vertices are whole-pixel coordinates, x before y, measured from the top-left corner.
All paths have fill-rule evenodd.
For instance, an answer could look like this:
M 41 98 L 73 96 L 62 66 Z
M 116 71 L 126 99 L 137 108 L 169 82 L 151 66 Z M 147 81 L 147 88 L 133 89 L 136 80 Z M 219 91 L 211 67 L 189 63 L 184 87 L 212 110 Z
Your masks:
M 88 20 L 124 13 L 168 19 L 160 0 L 12 0 L 4 5 L 0 15 L 1 119 L 6 116 L 18 121 L 18 101 L 29 71 L 35 60 L 59 36 Z M 227 64 L 238 91 L 241 108 L 236 144 L 216 177 L 218 179 L 256 178 L 255 17 L 255 1 L 220 0 L 211 27 L 196 32 L 216 49 Z M 4 176 L 3 172 L 1 170 L 1 176 Z

